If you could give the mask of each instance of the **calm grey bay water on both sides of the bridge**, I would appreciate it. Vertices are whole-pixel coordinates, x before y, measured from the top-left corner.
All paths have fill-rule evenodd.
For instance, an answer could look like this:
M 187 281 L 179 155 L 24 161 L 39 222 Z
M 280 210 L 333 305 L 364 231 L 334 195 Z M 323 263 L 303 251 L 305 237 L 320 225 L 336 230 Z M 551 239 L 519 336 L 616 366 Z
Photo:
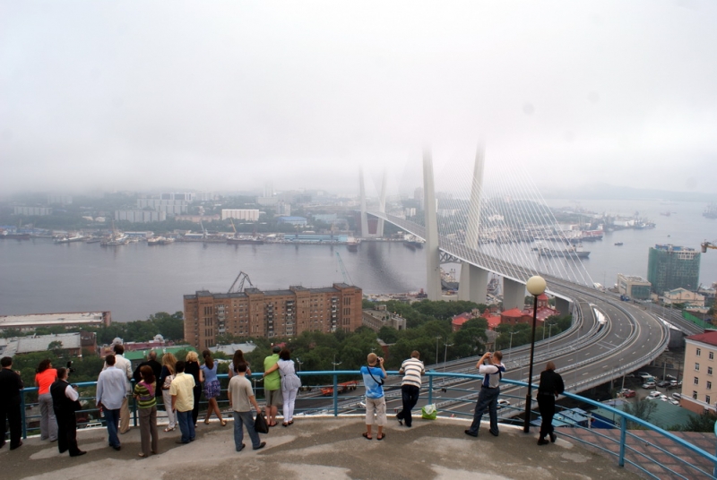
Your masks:
M 571 202 L 553 200 L 549 205 Z M 621 230 L 584 244 L 592 252 L 585 268 L 593 281 L 606 286 L 615 283 L 619 272 L 646 277 L 648 248 L 653 244 L 698 249 L 704 239 L 717 239 L 717 221 L 702 217 L 704 203 L 583 201 L 581 206 L 630 216 L 637 210 L 657 223 L 652 230 Z M 660 215 L 667 211 L 669 217 Z M 101 247 L 53 244 L 47 239 L 3 240 L 0 314 L 109 310 L 115 321 L 143 320 L 151 313 L 182 310 L 182 296 L 196 290 L 227 291 L 240 270 L 262 289 L 328 287 L 343 281 L 336 253 L 341 254 L 351 282 L 366 293 L 409 292 L 426 286 L 424 253 L 401 243 L 364 242 L 351 253 L 345 246 L 321 245 Z M 704 285 L 717 281 L 717 250 L 702 255 L 700 280 Z

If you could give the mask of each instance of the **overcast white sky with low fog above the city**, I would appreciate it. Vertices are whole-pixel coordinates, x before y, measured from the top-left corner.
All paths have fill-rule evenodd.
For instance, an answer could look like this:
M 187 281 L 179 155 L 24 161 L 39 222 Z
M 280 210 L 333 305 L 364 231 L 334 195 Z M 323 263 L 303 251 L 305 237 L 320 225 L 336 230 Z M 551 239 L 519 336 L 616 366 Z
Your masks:
M 0 3 L 0 192 L 412 190 L 488 176 L 717 194 L 717 2 Z

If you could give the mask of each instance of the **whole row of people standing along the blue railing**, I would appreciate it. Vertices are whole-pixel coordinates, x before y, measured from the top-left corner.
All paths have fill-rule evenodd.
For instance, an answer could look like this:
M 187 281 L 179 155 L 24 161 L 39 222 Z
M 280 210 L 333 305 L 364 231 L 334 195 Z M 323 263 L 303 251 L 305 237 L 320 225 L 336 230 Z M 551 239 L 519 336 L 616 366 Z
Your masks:
M 196 423 L 199 416 L 199 400 L 204 394 L 207 399 L 207 412 L 204 424 L 209 424 L 212 414 L 226 426 L 227 421 L 221 416 L 217 399 L 220 397 L 220 381 L 217 377 L 217 362 L 212 352 L 204 350 L 203 364 L 199 356 L 192 351 L 186 355 L 185 361 L 177 361 L 171 353 L 166 353 L 157 361 L 155 352 L 150 352 L 147 360 L 139 364 L 132 372 L 131 363 L 124 356 L 124 347 L 117 344 L 114 354 L 105 358 L 102 372 L 97 381 L 96 405 L 100 415 L 104 416 L 108 430 L 108 444 L 115 450 L 121 450 L 119 434 L 130 430 L 129 399 L 134 397 L 139 416 L 141 451 L 139 457 L 146 458 L 158 453 L 157 399 L 161 399 L 167 412 L 168 424 L 164 432 L 180 430 L 177 443 L 186 444 L 196 437 Z M 395 416 L 400 425 L 410 427 L 413 423 L 411 410 L 419 400 L 421 376 L 426 373 L 418 351 L 413 351 L 410 358 L 402 363 L 399 373 L 402 374 L 402 409 Z M 498 436 L 497 400 L 500 394 L 500 381 L 505 373 L 501 352 L 487 352 L 482 356 L 476 368 L 483 375 L 481 389 L 475 407 L 475 414 L 467 435 L 478 437 L 480 421 L 488 410 L 490 419 L 489 432 Z M 4 357 L 0 362 L 0 448 L 5 444 L 6 421 L 10 426 L 10 450 L 22 445 L 21 426 L 22 412 L 21 390 L 23 389 L 20 373 L 13 372 L 13 360 Z M 298 390 L 301 387 L 291 360 L 289 349 L 273 347 L 272 355 L 263 362 L 263 382 L 266 422 L 269 427 L 277 426 L 279 408 L 282 409 L 282 426 L 294 423 L 294 407 Z M 373 425 L 376 424 L 376 440 L 383 441 L 386 437 L 384 426 L 387 424 L 384 381 L 386 371 L 384 359 L 370 353 L 367 364 L 362 366 L 360 373 L 366 387 L 366 432 L 362 436 L 373 440 Z M 69 452 L 71 457 L 84 455 L 77 445 L 76 415 L 82 409 L 77 387 L 67 381 L 66 368 L 55 369 L 46 359 L 40 362 L 35 376 L 38 387 L 38 403 L 40 409 L 40 440 L 57 441 L 60 453 Z M 261 441 L 255 430 L 254 407 L 261 413 L 255 399 L 251 381 L 251 369 L 241 350 L 237 350 L 229 364 L 229 387 L 227 397 L 234 418 L 234 442 L 237 451 L 244 450 L 244 429 L 249 434 L 254 450 L 262 449 L 265 442 Z M 134 389 L 132 380 L 134 379 Z M 202 387 L 203 385 L 203 387 Z M 546 370 L 540 374 L 538 404 L 543 423 L 540 427 L 538 444 L 544 445 L 549 440 L 556 441 L 552 426 L 555 415 L 555 399 L 564 390 L 562 378 L 555 372 L 555 364 L 549 362 Z

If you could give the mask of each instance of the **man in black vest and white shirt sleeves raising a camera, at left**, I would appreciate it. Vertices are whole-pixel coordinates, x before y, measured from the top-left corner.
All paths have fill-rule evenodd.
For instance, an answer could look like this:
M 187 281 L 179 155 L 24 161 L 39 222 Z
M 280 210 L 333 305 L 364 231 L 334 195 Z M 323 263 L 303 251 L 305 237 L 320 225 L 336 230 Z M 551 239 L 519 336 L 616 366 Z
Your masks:
M 69 362 L 69 366 L 72 362 Z M 77 417 L 75 412 L 80 410 L 80 394 L 77 386 L 67 381 L 67 368 L 57 369 L 57 380 L 50 385 L 52 407 L 57 420 L 57 449 L 60 453 L 70 450 L 70 457 L 79 457 L 87 453 L 77 446 Z

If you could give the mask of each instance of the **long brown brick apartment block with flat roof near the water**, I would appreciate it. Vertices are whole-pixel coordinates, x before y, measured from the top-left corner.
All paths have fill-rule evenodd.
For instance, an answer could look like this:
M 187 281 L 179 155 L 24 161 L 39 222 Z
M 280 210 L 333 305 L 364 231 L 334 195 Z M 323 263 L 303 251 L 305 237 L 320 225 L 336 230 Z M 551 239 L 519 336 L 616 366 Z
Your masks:
M 294 337 L 304 331 L 353 331 L 361 326 L 362 291 L 345 283 L 288 290 L 245 288 L 243 292 L 186 295 L 185 340 L 213 347 L 218 335 Z

